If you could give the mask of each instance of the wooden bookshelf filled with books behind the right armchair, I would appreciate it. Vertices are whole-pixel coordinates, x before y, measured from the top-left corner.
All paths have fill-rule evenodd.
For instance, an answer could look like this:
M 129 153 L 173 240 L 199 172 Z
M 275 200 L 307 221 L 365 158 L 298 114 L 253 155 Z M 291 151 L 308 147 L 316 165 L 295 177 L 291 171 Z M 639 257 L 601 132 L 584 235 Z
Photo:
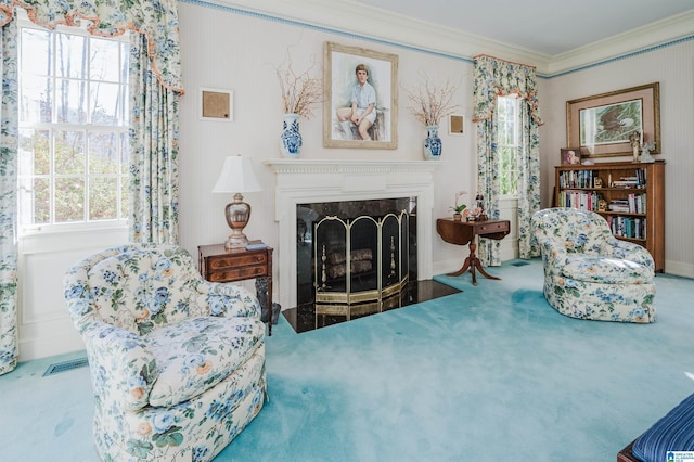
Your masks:
M 617 239 L 644 246 L 665 270 L 665 161 L 554 167 L 554 206 L 602 215 Z

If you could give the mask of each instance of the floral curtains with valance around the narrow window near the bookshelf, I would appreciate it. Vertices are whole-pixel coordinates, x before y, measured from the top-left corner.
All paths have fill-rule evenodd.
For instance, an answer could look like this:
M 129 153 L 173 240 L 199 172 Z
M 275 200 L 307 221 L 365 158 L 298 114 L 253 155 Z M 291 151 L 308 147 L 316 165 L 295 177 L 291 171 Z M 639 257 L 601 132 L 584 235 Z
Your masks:
M 543 124 L 538 112 L 535 67 L 496 57 L 475 56 L 474 117 L 477 123 L 477 189 L 490 218 L 499 218 L 499 153 L 497 150 L 497 97 L 523 99 L 522 140 L 518 152 L 518 242 L 520 258 L 540 255 L 532 241 L 532 214 L 540 209 L 540 139 Z M 485 265 L 501 265 L 499 241 L 483 239 L 478 256 Z

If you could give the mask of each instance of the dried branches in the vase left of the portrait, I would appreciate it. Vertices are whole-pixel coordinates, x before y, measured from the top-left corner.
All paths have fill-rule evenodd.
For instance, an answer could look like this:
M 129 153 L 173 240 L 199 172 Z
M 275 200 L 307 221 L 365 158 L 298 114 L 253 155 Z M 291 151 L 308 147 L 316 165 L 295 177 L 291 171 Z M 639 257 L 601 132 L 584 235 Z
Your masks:
M 311 61 L 312 64 L 308 69 L 297 74 L 292 66 L 292 56 L 287 50 L 286 60 L 274 68 L 280 81 L 284 114 L 298 114 L 309 119 L 313 115 L 312 106 L 323 102 L 322 79 L 312 76 L 314 68 L 318 68 L 319 76 L 322 69 L 316 59 Z

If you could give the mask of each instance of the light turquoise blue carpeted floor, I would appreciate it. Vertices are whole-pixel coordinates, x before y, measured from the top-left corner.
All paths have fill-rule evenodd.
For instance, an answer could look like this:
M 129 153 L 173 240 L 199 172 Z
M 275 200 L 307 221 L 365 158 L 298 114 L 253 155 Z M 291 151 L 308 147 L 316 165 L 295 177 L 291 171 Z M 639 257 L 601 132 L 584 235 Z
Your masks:
M 520 265 L 520 266 L 515 266 Z M 615 461 L 694 393 L 694 281 L 656 278 L 658 320 L 580 321 L 542 297 L 539 259 L 464 292 L 267 338 L 270 402 L 220 461 Z M 79 352 L 72 355 L 78 357 Z M 0 377 L 3 461 L 93 461 L 88 370 Z

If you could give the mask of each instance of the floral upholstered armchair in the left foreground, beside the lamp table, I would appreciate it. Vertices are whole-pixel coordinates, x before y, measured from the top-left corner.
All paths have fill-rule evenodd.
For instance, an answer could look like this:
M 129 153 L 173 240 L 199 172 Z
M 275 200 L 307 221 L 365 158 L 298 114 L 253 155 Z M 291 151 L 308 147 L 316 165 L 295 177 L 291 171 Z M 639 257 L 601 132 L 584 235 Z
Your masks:
M 260 411 L 265 324 L 244 287 L 205 281 L 184 249 L 124 245 L 65 275 L 89 358 L 105 461 L 207 461 Z

